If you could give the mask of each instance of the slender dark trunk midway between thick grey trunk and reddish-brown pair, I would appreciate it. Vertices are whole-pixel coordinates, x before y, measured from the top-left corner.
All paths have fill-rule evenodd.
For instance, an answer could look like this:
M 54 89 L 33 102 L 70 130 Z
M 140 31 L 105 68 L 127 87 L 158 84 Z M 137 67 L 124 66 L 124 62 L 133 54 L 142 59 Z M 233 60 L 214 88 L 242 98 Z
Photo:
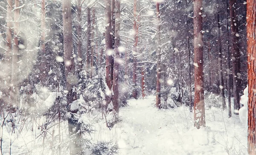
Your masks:
M 89 0 L 90 2 L 90 0 Z M 86 72 L 87 72 L 87 78 L 90 77 L 90 55 L 91 53 L 91 35 L 92 35 L 92 31 L 91 31 L 91 9 L 90 7 L 87 7 L 87 54 L 86 54 Z

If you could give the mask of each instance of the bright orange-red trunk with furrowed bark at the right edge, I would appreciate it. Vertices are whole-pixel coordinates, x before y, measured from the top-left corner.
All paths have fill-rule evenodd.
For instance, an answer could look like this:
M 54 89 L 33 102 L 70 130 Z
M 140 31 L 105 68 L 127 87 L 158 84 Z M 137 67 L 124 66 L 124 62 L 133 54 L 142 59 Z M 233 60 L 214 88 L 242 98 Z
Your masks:
M 248 153 L 256 155 L 256 2 L 247 0 Z

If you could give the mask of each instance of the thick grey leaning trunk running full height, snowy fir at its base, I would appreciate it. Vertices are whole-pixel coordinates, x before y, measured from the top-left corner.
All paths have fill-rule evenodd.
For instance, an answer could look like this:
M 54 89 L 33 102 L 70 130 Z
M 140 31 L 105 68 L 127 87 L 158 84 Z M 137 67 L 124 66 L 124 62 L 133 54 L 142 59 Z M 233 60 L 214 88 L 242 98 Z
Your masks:
M 63 35 L 64 35 L 64 63 L 67 86 L 67 104 L 71 114 L 68 118 L 68 128 L 70 133 L 70 155 L 76 155 L 81 152 L 81 126 L 75 118 L 78 109 L 71 109 L 71 103 L 76 100 L 76 92 L 73 92 L 73 86 L 76 85 L 75 64 L 73 58 L 73 38 L 72 38 L 72 13 L 71 1 L 62 1 L 63 10 Z

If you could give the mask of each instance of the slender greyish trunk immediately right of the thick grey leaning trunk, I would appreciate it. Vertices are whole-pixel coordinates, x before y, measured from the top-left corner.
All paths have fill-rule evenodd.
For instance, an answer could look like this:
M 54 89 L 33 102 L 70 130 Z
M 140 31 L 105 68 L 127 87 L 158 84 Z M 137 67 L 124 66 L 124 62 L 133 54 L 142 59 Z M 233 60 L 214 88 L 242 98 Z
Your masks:
M 81 28 L 81 20 L 82 20 L 82 5 L 81 0 L 77 0 L 77 14 L 76 14 L 76 31 L 77 31 L 77 62 L 78 62 L 78 72 L 81 72 L 83 68 L 83 56 L 82 56 L 82 28 Z

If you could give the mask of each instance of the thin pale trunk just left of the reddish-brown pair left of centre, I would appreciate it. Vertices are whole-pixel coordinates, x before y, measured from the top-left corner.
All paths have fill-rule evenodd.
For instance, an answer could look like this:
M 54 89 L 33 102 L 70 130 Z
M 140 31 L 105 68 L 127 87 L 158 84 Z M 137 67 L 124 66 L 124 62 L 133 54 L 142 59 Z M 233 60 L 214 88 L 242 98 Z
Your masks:
M 92 25 L 92 36 L 91 36 L 91 60 L 90 60 L 90 78 L 93 77 L 93 58 L 94 58 L 94 34 L 95 34 L 95 7 L 93 7 L 93 25 Z

